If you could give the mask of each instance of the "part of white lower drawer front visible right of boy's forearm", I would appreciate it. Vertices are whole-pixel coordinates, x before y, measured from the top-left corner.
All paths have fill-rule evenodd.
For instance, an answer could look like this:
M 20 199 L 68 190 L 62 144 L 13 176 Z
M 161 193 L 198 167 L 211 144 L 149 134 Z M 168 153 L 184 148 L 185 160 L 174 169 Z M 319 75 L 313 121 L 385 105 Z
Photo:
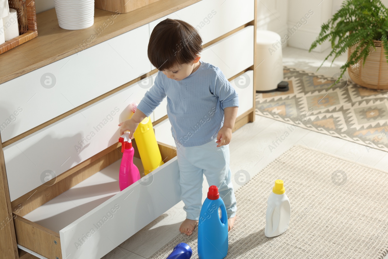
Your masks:
M 237 117 L 253 108 L 253 70 L 248 70 L 230 82 L 239 94 Z

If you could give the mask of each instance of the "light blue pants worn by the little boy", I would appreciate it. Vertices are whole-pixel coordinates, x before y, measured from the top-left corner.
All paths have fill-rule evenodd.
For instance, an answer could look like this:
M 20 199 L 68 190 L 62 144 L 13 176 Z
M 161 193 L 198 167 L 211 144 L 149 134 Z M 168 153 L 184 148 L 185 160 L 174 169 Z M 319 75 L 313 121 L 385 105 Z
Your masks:
M 203 175 L 209 186 L 218 187 L 225 203 L 228 218 L 236 215 L 236 198 L 230 182 L 229 145 L 217 148 L 217 139 L 202 146 L 184 147 L 177 144 L 177 158 L 180 171 L 179 184 L 185 203 L 186 218 L 199 219 L 202 207 Z

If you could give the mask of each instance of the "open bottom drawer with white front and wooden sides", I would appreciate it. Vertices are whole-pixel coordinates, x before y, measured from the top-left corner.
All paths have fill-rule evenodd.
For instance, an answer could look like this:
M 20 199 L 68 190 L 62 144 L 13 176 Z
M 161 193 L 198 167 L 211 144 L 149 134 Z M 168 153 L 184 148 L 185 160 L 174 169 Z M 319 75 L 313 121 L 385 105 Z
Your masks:
M 180 201 L 176 156 L 121 192 L 120 163 L 17 217 L 17 243 L 49 259 L 98 259 Z M 141 160 L 134 158 L 134 163 L 141 171 Z M 31 225 L 35 230 L 26 231 Z M 34 245 L 42 235 L 47 243 Z

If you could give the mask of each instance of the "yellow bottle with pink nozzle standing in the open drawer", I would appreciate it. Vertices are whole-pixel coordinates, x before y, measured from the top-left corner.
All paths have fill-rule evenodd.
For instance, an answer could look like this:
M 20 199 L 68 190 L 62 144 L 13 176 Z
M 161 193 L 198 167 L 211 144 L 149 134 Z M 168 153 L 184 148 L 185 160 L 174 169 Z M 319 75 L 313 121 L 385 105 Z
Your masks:
M 137 109 L 137 104 L 130 104 L 130 109 L 132 111 L 130 117 L 132 117 Z M 152 172 L 163 165 L 164 162 L 160 155 L 150 117 L 144 118 L 144 120 L 139 123 L 137 129 L 133 132 L 133 137 L 135 137 L 137 150 L 139 151 L 143 163 L 144 175 L 149 174 L 149 172 Z

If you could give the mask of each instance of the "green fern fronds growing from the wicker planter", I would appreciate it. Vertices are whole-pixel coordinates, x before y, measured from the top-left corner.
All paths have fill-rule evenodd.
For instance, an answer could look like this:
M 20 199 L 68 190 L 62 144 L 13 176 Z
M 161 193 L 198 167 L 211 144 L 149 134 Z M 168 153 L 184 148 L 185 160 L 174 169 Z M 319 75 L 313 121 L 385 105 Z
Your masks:
M 349 47 L 356 46 L 355 51 L 341 66 L 341 75 L 338 78 L 341 79 L 350 66 L 359 63 L 360 60 L 363 60 L 364 65 L 371 47 L 376 50 L 374 40 L 383 41 L 384 54 L 388 62 L 387 35 L 388 9 L 380 0 L 347 0 L 327 23 L 322 24 L 319 36 L 308 51 L 311 52 L 318 44 L 330 40 L 332 50 L 319 66 L 321 68 L 329 57 L 334 55 L 331 63 L 333 64 L 334 59 L 345 53 Z

